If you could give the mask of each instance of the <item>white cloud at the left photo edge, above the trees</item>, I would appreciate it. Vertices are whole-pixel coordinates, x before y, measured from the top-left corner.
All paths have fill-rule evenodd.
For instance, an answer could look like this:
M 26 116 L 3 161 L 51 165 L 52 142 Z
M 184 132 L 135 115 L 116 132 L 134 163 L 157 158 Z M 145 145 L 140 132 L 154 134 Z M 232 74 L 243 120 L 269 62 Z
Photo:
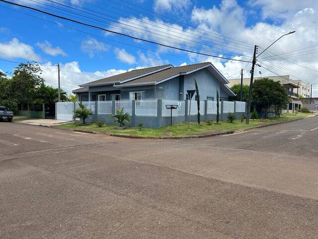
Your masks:
M 0 42 L 0 56 L 7 59 L 41 60 L 41 57 L 35 54 L 32 46 L 20 42 L 17 38 L 12 38 L 9 42 Z

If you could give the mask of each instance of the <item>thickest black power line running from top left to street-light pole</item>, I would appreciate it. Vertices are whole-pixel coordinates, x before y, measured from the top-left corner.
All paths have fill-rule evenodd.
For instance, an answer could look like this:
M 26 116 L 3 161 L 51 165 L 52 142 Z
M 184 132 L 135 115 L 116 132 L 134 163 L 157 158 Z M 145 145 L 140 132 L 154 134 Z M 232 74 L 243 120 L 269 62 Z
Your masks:
M 56 14 L 53 14 L 53 13 L 50 13 L 50 12 L 46 12 L 46 11 L 34 8 L 34 7 L 30 7 L 30 6 L 26 6 L 26 5 L 22 5 L 22 4 L 6 1 L 6 0 L 0 0 L 0 1 L 8 3 L 8 4 L 11 4 L 11 5 L 20 6 L 20 7 L 27 8 L 27 9 L 31 9 L 31 10 L 34 10 L 34 11 L 37 11 L 37 12 L 41 12 L 41 13 L 44 13 L 44 14 L 47 14 L 47 15 L 50 15 L 50 16 L 53 16 L 53 17 L 56 17 L 56 18 L 68 20 L 68 21 L 71 21 L 71 22 L 74 22 L 74 23 L 77 23 L 77 24 L 80 24 L 80 25 L 84 25 L 84 26 L 100 29 L 100 30 L 103 30 L 103 31 L 106 31 L 106 32 L 110 32 L 110 33 L 114 33 L 114 34 L 118 34 L 118 35 L 121 35 L 121 36 L 126 36 L 126 37 L 129 37 L 129 38 L 135 39 L 135 40 L 145 41 L 145 42 L 149 42 L 149 43 L 152 43 L 152 44 L 156 44 L 156 45 L 160 45 L 160 46 L 164 46 L 164 47 L 168 47 L 168 48 L 172 48 L 172 49 L 176 49 L 176 50 L 181 50 L 181 51 L 185 51 L 185 52 L 190 52 L 190 53 L 194 53 L 194 54 L 199 54 L 199 55 L 211 56 L 211 57 L 215 57 L 215 58 L 221 58 L 221 59 L 227 59 L 227 60 L 233 60 L 233 61 L 248 62 L 248 61 L 245 61 L 245 60 L 231 59 L 231 58 L 228 58 L 228 57 L 215 56 L 215 55 L 195 52 L 195 51 L 191 51 L 191 50 L 187 50 L 187 49 L 182 49 L 182 48 L 179 48 L 179 47 L 169 46 L 169 45 L 162 44 L 162 43 L 159 43 L 159 42 L 146 40 L 146 39 L 135 37 L 135 36 L 131 36 L 131 35 L 128 35 L 128 34 L 125 34 L 125 33 L 116 32 L 116 31 L 113 31 L 113 30 L 109 30 L 109 29 L 106 29 L 106 28 L 99 27 L 99 26 L 87 24 L 87 23 L 80 22 L 80 21 L 77 21 L 77 20 L 74 20 L 74 19 L 71 19 L 71 18 L 64 17 L 64 16 L 59 16 L 59 15 L 56 15 Z

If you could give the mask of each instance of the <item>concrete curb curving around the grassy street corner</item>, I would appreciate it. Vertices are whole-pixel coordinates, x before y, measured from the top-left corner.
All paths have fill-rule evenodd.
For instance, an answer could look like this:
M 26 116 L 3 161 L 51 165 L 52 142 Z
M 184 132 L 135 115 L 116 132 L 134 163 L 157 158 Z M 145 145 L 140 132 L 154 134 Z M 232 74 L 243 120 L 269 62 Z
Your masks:
M 318 116 L 318 115 L 316 115 Z M 314 117 L 316 117 L 314 116 Z M 297 121 L 301 119 L 306 119 L 306 118 L 299 118 L 299 119 L 291 119 L 291 120 L 285 120 L 285 121 L 279 121 L 279 122 L 274 122 L 274 123 L 269 123 L 269 124 L 261 124 L 255 127 L 251 128 L 245 128 L 241 130 L 228 130 L 224 132 L 217 132 L 217 133 L 208 133 L 208 134 L 202 134 L 202 135 L 188 135 L 188 136 L 174 136 L 174 137 L 153 137 L 153 136 L 148 136 L 148 137 L 143 137 L 143 136 L 134 136 L 134 135 L 123 135 L 123 134 L 115 134 L 115 133 L 108 133 L 108 132 L 99 132 L 99 131 L 91 131 L 91 130 L 84 130 L 84 129 L 71 129 L 71 128 L 62 128 L 59 127 L 58 125 L 36 125 L 36 126 L 44 126 L 44 127 L 49 127 L 49 128 L 57 128 L 57 129 L 63 129 L 63 130 L 68 130 L 68 131 L 73 131 L 73 132 L 81 132 L 81 133 L 90 133 L 90 134 L 103 134 L 107 136 L 113 136 L 113 137 L 121 137 L 121 138 L 136 138 L 136 139 L 186 139 L 186 138 L 206 138 L 206 137 L 213 137 L 213 136 L 219 136 L 219 135 L 225 135 L 225 134 L 232 134 L 235 132 L 244 132 L 248 131 L 251 129 L 255 128 L 261 128 L 261 127 L 267 127 L 271 125 L 276 125 L 276 124 L 281 124 L 281 123 L 287 123 L 287 122 L 292 122 L 292 121 Z

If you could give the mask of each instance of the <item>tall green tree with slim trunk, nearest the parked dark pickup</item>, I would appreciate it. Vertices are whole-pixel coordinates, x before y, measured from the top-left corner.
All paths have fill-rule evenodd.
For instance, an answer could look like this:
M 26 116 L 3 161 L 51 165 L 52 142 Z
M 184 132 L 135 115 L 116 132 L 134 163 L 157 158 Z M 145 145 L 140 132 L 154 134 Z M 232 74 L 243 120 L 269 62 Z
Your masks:
M 30 118 L 30 105 L 36 100 L 37 91 L 44 82 L 41 77 L 42 70 L 36 62 L 20 63 L 13 71 L 10 87 L 15 92 L 19 103 L 26 103 L 28 118 Z

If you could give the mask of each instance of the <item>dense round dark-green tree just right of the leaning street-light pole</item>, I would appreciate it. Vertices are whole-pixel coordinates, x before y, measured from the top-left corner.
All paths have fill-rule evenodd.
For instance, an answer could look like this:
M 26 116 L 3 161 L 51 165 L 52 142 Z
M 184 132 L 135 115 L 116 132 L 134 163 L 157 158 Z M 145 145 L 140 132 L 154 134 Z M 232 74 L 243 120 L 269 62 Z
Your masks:
M 283 109 L 286 108 L 288 102 L 288 94 L 280 82 L 268 78 L 255 80 L 253 103 L 256 109 L 265 113 L 265 117 L 267 117 L 270 107 Z

